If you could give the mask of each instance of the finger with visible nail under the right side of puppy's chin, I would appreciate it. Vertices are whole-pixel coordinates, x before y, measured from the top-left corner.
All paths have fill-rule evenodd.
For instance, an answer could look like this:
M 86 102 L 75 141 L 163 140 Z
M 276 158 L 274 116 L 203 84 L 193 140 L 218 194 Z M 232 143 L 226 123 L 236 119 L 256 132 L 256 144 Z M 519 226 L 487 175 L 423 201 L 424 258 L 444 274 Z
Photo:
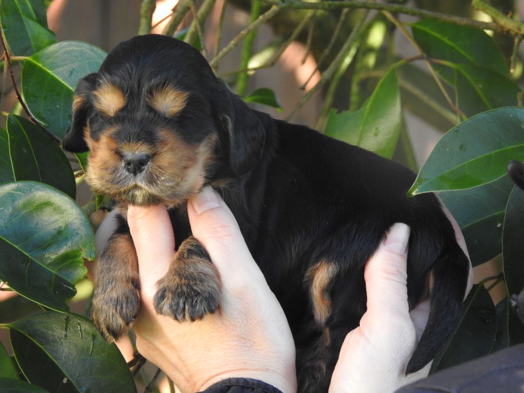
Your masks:
M 189 199 L 188 215 L 193 236 L 208 251 L 224 280 L 264 279 L 233 213 L 211 187 Z

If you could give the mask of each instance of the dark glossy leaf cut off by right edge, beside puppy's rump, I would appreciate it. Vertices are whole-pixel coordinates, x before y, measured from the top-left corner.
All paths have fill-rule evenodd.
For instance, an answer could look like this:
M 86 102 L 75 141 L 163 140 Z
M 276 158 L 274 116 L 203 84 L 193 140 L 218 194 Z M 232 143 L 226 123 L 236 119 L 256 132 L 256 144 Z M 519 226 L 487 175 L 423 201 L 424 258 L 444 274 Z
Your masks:
M 509 196 L 504 219 L 502 256 L 508 293 L 524 288 L 524 191 L 515 187 Z

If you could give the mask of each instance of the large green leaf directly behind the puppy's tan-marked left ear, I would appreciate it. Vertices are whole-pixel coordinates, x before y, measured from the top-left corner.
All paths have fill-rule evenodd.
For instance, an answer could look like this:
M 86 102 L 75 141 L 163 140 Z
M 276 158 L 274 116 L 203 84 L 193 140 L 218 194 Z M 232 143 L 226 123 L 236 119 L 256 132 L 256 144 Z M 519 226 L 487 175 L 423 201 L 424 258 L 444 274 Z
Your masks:
M 21 90 L 31 111 L 62 139 L 71 124 L 71 104 L 78 81 L 96 72 L 106 53 L 81 41 L 62 41 L 24 61 Z

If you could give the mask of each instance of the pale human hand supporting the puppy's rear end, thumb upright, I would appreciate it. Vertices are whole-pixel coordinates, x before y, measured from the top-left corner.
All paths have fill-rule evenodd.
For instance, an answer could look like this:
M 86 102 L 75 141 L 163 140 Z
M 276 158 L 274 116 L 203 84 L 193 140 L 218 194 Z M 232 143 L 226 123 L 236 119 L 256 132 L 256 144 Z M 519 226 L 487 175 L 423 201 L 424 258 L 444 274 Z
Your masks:
M 467 255 L 459 226 L 451 214 L 457 242 Z M 355 330 L 347 334 L 331 378 L 330 393 L 389 393 L 429 373 L 431 363 L 405 375 L 406 366 L 425 328 L 429 300 L 411 312 L 407 293 L 409 227 L 395 224 L 366 264 L 367 311 Z M 472 287 L 472 269 L 466 294 Z M 387 329 L 384 329 L 387 321 Z

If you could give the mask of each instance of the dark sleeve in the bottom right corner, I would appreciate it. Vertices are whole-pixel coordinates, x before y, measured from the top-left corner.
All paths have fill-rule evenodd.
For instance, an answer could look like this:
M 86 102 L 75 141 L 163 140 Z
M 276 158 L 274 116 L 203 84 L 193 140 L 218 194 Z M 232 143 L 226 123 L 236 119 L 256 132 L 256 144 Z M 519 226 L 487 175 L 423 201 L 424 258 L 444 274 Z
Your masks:
M 521 392 L 524 386 L 524 345 L 447 368 L 405 386 L 396 393 Z

